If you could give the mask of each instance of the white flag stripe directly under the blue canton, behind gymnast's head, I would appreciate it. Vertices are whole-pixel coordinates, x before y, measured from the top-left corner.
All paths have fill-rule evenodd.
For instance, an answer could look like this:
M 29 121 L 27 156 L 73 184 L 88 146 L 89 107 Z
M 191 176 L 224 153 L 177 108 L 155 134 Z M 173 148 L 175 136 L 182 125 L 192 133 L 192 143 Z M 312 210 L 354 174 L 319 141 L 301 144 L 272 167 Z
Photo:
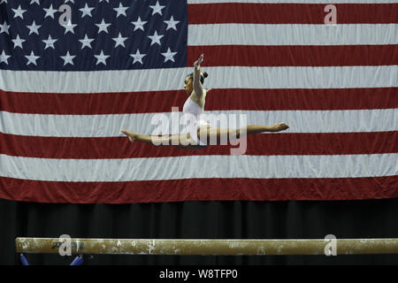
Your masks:
M 390 88 L 398 87 L 398 65 L 209 67 L 205 88 Z M 104 93 L 183 89 L 193 68 L 40 72 L 0 71 L 0 89 L 35 93 Z

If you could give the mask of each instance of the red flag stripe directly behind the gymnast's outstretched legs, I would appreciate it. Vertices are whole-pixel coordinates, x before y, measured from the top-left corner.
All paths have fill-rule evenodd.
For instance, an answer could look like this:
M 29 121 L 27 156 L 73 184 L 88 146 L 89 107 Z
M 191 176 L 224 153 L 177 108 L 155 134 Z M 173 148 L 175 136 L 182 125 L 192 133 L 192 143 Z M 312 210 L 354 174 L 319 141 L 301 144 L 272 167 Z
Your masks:
M 398 131 L 332 134 L 249 135 L 245 155 L 341 155 L 398 152 Z M 59 138 L 0 133 L 0 153 L 17 157 L 101 159 L 230 155 L 238 146 L 212 145 L 202 150 L 128 142 L 126 137 Z M 73 150 L 70 150 L 73 149 Z

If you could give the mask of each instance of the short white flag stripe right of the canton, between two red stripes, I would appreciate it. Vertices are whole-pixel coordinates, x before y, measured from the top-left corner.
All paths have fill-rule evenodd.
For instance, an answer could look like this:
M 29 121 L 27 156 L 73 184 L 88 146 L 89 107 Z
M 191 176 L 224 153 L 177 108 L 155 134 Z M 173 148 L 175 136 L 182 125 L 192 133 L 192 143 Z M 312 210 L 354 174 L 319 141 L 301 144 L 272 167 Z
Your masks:
M 397 31 L 397 24 L 189 25 L 188 46 L 398 44 Z

